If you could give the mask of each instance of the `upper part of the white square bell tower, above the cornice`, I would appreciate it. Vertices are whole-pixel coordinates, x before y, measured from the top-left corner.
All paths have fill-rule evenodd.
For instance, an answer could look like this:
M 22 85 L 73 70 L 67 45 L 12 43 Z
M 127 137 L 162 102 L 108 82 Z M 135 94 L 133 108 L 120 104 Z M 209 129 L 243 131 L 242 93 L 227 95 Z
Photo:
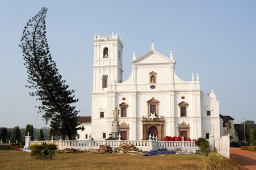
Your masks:
M 93 92 L 107 91 L 109 83 L 123 81 L 123 42 L 114 32 L 94 36 Z

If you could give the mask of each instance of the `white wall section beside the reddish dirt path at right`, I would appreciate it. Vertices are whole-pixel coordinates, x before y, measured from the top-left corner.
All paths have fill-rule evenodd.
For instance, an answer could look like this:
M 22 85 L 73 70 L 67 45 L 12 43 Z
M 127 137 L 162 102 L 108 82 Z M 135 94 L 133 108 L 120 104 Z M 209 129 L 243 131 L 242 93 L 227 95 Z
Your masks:
M 228 159 L 230 157 L 229 142 L 229 134 L 226 136 L 221 136 L 219 139 L 215 139 L 215 148 L 217 153 Z

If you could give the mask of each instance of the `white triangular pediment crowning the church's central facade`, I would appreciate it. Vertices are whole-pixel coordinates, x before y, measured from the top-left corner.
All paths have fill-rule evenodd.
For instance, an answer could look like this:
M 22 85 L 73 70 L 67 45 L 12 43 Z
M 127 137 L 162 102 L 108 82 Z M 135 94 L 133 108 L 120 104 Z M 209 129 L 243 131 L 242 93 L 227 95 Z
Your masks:
M 141 57 L 132 61 L 131 65 L 157 63 L 175 63 L 175 61 L 169 57 L 163 56 L 163 54 L 158 53 L 155 50 L 150 50 L 148 53 L 145 53 Z

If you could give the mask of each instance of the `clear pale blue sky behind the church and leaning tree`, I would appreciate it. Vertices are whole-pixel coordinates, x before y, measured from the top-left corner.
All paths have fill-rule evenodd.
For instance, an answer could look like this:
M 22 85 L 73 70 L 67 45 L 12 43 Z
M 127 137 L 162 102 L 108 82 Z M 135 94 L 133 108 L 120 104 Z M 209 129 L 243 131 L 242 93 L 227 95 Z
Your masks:
M 214 90 L 220 114 L 256 122 L 256 1 L 3 1 L 0 0 L 0 126 L 49 127 L 31 97 L 23 53 L 24 26 L 48 7 L 47 40 L 57 69 L 74 90 L 79 116 L 91 116 L 94 35 L 123 40 L 123 81 L 133 52 L 167 57 L 185 81 L 199 73 L 200 88 Z

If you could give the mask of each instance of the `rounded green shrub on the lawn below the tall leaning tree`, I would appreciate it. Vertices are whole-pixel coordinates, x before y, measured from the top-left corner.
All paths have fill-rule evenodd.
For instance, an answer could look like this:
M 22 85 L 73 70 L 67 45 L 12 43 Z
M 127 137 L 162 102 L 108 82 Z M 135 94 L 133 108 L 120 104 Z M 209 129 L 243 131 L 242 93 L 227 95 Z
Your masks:
M 52 159 L 55 156 L 57 145 L 54 143 L 35 143 L 30 146 L 31 156 L 36 159 Z

